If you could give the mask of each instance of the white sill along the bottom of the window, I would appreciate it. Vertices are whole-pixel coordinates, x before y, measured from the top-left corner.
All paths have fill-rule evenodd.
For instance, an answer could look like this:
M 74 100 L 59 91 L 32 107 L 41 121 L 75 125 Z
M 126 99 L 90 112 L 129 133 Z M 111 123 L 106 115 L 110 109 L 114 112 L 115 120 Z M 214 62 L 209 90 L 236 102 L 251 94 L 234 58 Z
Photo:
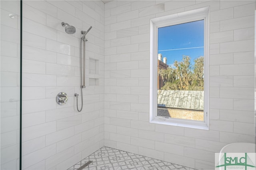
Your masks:
M 175 122 L 161 121 L 161 120 L 152 120 L 149 123 L 155 123 L 155 124 L 160 124 L 160 125 L 171 125 L 171 126 L 176 126 L 176 127 L 197 128 L 197 129 L 201 129 L 201 130 L 209 130 L 209 127 L 207 125 L 204 125 L 203 123 L 201 125 L 191 125 L 191 124 L 175 123 Z

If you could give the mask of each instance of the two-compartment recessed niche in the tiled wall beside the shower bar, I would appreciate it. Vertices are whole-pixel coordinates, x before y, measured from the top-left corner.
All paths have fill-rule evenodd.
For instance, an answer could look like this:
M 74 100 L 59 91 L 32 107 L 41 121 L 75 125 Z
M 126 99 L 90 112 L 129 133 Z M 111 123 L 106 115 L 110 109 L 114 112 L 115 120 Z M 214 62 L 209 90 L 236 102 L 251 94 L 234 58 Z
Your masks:
M 89 85 L 99 85 L 99 78 L 100 73 L 100 61 L 98 59 L 89 58 Z

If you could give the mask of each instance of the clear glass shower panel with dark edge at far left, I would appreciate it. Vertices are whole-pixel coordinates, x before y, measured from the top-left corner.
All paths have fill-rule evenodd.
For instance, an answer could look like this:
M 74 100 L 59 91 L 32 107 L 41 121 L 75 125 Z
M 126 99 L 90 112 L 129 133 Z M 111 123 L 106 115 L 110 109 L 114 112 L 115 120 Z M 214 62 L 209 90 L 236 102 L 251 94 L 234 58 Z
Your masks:
M 0 169 L 20 157 L 20 1 L 0 1 Z

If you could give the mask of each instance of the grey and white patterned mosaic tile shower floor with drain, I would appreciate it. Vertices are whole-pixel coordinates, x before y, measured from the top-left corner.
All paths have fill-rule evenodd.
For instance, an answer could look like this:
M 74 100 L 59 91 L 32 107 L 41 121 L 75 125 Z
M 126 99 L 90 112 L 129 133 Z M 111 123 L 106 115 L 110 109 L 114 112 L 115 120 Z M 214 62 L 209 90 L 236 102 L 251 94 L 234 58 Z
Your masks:
M 103 146 L 68 170 L 77 170 L 88 161 L 91 164 L 83 170 L 194 170 L 186 166 L 117 150 Z

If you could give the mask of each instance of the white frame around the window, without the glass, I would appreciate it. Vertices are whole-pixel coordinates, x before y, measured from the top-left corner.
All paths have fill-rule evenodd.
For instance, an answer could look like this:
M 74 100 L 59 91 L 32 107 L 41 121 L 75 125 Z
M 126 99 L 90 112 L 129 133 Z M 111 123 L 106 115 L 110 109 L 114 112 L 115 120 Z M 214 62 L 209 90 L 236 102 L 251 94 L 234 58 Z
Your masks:
M 150 20 L 150 123 L 209 130 L 209 7 Z M 157 117 L 158 28 L 204 20 L 204 121 Z

